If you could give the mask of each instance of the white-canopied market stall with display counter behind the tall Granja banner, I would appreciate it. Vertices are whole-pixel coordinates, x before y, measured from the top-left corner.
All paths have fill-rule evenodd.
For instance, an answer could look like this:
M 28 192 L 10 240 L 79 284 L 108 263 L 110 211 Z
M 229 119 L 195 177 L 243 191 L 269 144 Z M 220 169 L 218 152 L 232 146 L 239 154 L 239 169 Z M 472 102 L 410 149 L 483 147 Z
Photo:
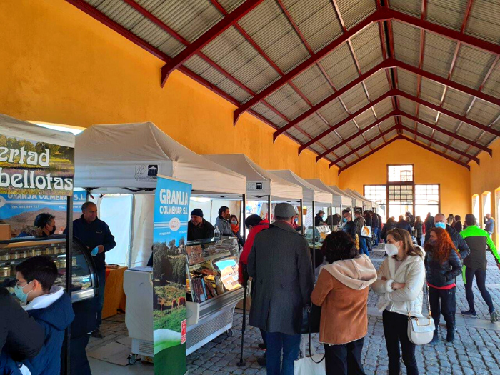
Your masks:
M 76 186 L 86 189 L 89 194 L 134 194 L 130 251 L 131 259 L 134 260 L 132 263 L 135 264 L 145 265 L 151 256 L 156 176 L 169 176 L 189 182 L 192 185 L 191 199 L 232 199 L 242 201 L 240 206 L 244 206 L 244 176 L 199 156 L 151 122 L 94 125 L 86 129 L 76 136 L 75 169 Z M 193 204 L 192 201 L 190 203 Z M 216 261 L 227 260 L 237 266 L 239 248 L 232 246 L 231 239 L 228 241 L 231 242 L 229 246 L 219 246 L 219 242 L 213 239 L 194 244 L 184 239 L 186 248 L 194 246 L 201 250 L 197 260 L 186 256 L 187 278 L 191 279 L 201 269 L 216 267 Z M 229 247 L 231 249 L 226 249 Z M 178 251 L 175 254 L 184 254 L 181 244 L 171 250 Z M 218 272 L 217 269 L 212 270 Z M 244 291 L 239 286 L 231 289 L 221 286 L 213 298 L 199 299 L 189 289 L 193 284 L 187 284 L 188 301 L 182 303 L 187 307 L 186 354 L 189 354 L 216 336 L 226 331 L 230 333 L 234 307 L 243 298 Z M 161 304 L 163 308 L 164 304 L 169 304 L 172 307 L 173 302 L 169 296 L 163 296 L 160 291 L 153 289 L 151 267 L 126 270 L 124 291 L 126 326 L 133 339 L 132 352 L 134 355 L 152 357 L 153 305 Z M 154 295 L 158 298 L 154 299 Z

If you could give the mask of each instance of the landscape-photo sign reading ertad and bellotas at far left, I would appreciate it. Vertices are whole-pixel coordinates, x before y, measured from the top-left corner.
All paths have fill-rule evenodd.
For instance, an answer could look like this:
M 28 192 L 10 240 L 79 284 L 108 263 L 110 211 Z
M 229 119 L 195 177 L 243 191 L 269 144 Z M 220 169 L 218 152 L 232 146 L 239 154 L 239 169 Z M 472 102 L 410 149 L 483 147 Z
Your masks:
M 74 149 L 0 135 L 0 194 L 71 195 Z

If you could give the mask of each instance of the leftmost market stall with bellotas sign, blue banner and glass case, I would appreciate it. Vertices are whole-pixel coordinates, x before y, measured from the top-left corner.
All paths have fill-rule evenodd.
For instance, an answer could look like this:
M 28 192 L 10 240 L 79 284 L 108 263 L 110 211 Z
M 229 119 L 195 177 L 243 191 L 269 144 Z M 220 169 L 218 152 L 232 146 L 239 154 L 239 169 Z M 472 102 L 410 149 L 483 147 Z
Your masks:
M 80 365 L 73 359 L 81 362 L 86 358 L 84 346 L 82 349 L 76 343 L 88 341 L 87 334 L 96 327 L 95 310 L 92 309 L 98 289 L 94 261 L 89 249 L 73 239 L 71 226 L 67 236 L 46 236 L 33 227 L 34 218 L 41 212 L 31 211 L 29 198 L 60 200 L 65 205 L 66 216 L 62 216 L 62 220 L 58 216 L 61 222 L 55 224 L 64 227 L 73 221 L 74 135 L 4 114 L 0 114 L 0 134 L 0 147 L 8 149 L 11 155 L 0 162 L 0 203 L 3 206 L 9 194 L 19 195 L 20 199 L 18 209 L 2 210 L 0 219 L 22 221 L 33 229 L 29 232 L 26 227 L 24 234 L 27 236 L 11 238 L 10 225 L 0 225 L 3 229 L 0 233 L 4 234 L 0 241 L 0 286 L 14 286 L 16 265 L 32 256 L 48 256 L 54 261 L 59 274 L 54 284 L 71 294 L 75 313 L 73 324 L 66 330 L 66 344 L 61 356 L 61 373 L 71 374 L 72 369 Z M 54 214 L 54 217 L 56 214 L 51 209 L 43 212 Z

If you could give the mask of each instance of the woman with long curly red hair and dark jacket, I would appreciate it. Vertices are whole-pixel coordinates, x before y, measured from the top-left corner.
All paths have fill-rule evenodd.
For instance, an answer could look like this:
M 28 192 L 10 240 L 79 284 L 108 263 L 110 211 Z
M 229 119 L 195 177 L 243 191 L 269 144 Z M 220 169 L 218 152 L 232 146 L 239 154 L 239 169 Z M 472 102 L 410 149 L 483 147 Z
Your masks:
M 439 341 L 439 318 L 446 321 L 446 341 L 455 338 L 455 278 L 461 274 L 459 252 L 448 232 L 442 228 L 431 229 L 430 239 L 425 245 L 426 279 L 429 286 L 429 302 L 434 318 L 434 337 L 431 343 Z

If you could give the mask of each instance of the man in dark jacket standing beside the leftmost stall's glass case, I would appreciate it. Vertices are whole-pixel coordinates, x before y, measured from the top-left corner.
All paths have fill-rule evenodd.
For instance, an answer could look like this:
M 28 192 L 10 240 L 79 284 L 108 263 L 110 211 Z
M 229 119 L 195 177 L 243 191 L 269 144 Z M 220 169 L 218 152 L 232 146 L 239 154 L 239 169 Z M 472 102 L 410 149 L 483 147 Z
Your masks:
M 99 279 L 99 296 L 96 298 L 97 329 L 92 336 L 102 339 L 99 327 L 102 323 L 102 306 L 104 305 L 104 285 L 106 283 L 106 251 L 116 246 L 114 236 L 109 230 L 108 224 L 97 218 L 97 206 L 92 202 L 81 205 L 82 215 L 80 219 L 73 221 L 73 235 L 80 239 L 91 249 L 96 263 L 97 278 Z M 67 234 L 68 229 L 64 230 Z M 97 251 L 95 251 L 97 249 Z

